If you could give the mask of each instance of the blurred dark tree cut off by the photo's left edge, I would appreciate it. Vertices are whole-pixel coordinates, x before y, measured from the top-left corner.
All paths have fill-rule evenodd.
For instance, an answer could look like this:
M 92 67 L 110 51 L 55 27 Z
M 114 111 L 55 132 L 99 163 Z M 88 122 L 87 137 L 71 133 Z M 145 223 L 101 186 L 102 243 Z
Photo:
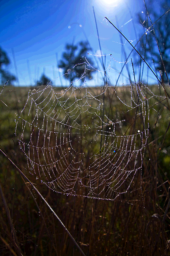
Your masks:
M 8 81 L 8 84 L 12 84 L 13 81 L 16 80 L 16 77 L 10 74 L 10 72 L 4 70 L 3 66 L 8 66 L 10 64 L 10 60 L 6 52 L 2 50 L 0 47 L 0 80 L 2 84 L 5 84 Z

